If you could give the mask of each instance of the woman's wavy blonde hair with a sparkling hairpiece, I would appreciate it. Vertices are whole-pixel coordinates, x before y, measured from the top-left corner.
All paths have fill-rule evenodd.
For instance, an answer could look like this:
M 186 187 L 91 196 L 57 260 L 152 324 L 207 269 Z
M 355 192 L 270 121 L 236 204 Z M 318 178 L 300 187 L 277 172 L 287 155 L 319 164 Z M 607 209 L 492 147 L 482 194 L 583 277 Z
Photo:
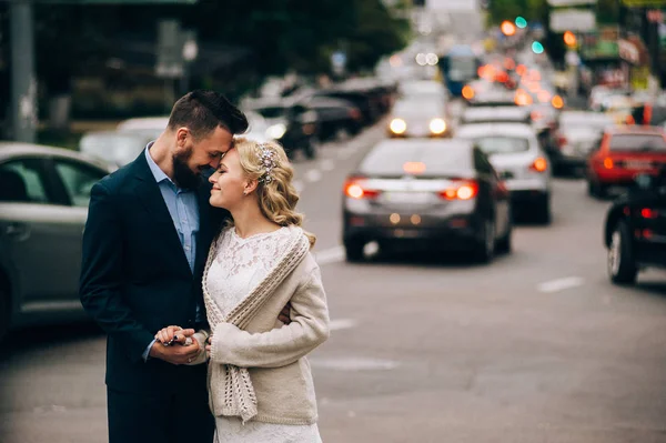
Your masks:
M 232 149 L 239 153 L 245 177 L 259 181 L 255 192 L 264 217 L 282 226 L 301 226 L 303 214 L 295 211 L 299 193 L 292 182 L 294 170 L 284 149 L 273 141 L 259 143 L 242 137 L 234 140 Z M 305 235 L 314 246 L 316 236 L 310 232 Z

